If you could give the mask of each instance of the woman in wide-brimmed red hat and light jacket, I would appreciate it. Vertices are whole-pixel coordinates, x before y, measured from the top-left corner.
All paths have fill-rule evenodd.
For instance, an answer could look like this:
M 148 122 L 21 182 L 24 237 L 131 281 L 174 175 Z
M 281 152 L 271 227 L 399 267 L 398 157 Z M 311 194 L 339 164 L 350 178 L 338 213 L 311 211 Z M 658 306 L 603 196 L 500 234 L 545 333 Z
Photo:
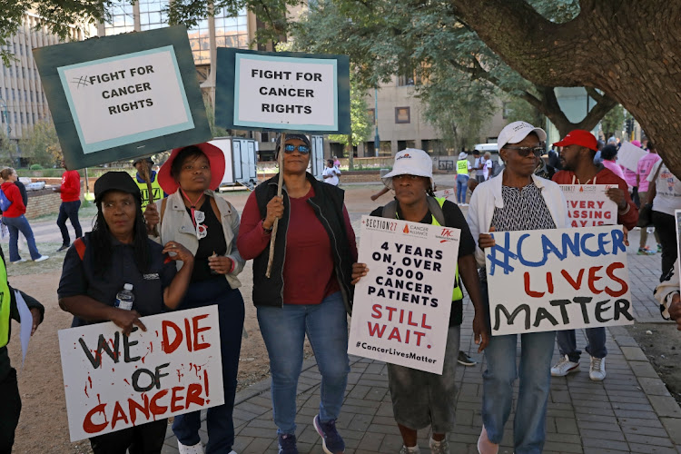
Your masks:
M 242 349 L 243 299 L 239 291 L 244 260 L 236 248 L 239 214 L 217 189 L 224 174 L 224 154 L 211 143 L 176 148 L 157 175 L 167 199 L 147 205 L 150 233 L 161 242 L 183 244 L 194 255 L 189 289 L 178 309 L 218 305 L 224 404 L 208 409 L 207 453 L 229 453 L 234 443 L 232 410 Z M 173 432 L 181 454 L 202 453 L 199 411 L 176 416 Z M 233 451 L 232 451 L 233 452 Z

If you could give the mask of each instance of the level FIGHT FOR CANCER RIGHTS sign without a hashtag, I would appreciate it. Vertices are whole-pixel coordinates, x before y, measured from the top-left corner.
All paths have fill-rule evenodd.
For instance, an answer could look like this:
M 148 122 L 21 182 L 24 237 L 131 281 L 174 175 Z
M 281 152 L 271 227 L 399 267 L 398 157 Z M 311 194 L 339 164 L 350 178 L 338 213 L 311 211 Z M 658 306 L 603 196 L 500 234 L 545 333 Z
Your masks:
M 227 129 L 350 133 L 347 55 L 218 48 L 215 123 Z

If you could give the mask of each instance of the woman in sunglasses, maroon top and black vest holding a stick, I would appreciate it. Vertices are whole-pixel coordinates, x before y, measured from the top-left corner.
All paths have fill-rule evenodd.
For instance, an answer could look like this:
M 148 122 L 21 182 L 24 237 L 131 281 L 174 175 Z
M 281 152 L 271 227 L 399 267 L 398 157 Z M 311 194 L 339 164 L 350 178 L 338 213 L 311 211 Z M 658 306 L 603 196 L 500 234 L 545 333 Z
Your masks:
M 281 139 L 281 137 L 280 137 Z M 279 146 L 277 147 L 279 150 Z M 237 244 L 253 259 L 253 303 L 270 356 L 271 399 L 280 454 L 296 454 L 296 388 L 305 335 L 321 372 L 321 403 L 314 417 L 324 452 L 345 449 L 335 421 L 348 382 L 348 324 L 355 234 L 343 203 L 344 192 L 306 172 L 310 141 L 286 134 L 283 191 L 278 178 L 261 183 L 243 209 Z M 270 277 L 266 276 L 271 231 L 279 219 Z

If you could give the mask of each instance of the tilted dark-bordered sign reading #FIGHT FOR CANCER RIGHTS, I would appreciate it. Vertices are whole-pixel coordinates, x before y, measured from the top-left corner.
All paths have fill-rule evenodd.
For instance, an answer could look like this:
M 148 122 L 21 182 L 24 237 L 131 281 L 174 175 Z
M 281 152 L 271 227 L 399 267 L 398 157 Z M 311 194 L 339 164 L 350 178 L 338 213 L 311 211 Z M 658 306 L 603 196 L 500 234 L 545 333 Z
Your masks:
M 34 50 L 68 169 L 211 139 L 183 26 Z

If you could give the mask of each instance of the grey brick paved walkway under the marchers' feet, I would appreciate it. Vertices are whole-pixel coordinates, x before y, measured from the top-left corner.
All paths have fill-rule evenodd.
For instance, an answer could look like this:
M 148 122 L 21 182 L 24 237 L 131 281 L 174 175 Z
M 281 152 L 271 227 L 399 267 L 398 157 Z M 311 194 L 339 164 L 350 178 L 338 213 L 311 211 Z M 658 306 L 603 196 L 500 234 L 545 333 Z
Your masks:
M 652 238 L 652 236 L 651 236 Z M 651 240 L 652 241 L 652 240 Z M 631 285 L 637 321 L 661 321 L 652 289 L 659 273 L 659 255 L 636 255 L 638 233 L 632 232 L 629 247 Z M 459 367 L 457 427 L 449 434 L 452 454 L 477 453 L 481 428 L 480 399 L 484 359 L 472 344 L 472 306 L 464 306 L 461 350 L 479 363 Z M 582 371 L 551 382 L 548 400 L 549 453 L 678 453 L 681 452 L 681 410 L 653 370 L 637 342 L 622 327 L 607 330 L 607 379 L 588 379 L 588 355 L 581 358 Z M 472 345 L 472 346 L 471 346 Z M 586 345 L 584 331 L 577 331 L 577 345 Z M 558 360 L 558 349 L 554 360 Z M 384 363 L 350 357 L 351 372 L 338 428 L 348 454 L 397 453 L 400 432 L 392 418 L 388 377 Z M 312 427 L 320 401 L 320 374 L 315 361 L 307 360 L 298 387 L 298 448 L 301 453 L 322 453 L 320 437 Z M 518 387 L 516 386 L 516 392 Z M 240 454 L 276 453 L 276 427 L 272 422 L 270 381 L 263 380 L 237 396 L 234 410 L 236 444 Z M 500 453 L 512 453 L 512 419 Z M 205 428 L 205 422 L 203 423 Z M 205 442 L 207 434 L 202 430 Z M 428 449 L 429 431 L 419 431 L 422 452 Z M 177 442 L 169 431 L 164 453 L 176 453 Z

